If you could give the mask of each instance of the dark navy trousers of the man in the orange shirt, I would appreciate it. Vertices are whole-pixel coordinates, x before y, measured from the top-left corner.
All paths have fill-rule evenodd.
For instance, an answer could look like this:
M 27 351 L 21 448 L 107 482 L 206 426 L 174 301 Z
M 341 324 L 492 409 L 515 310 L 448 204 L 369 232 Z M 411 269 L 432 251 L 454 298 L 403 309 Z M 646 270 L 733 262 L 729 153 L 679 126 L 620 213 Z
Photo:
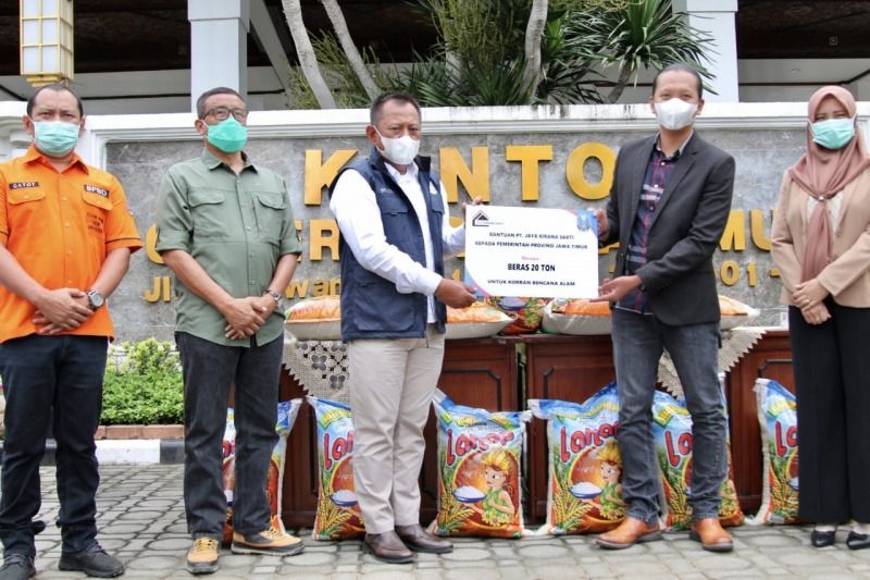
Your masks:
M 97 535 L 100 476 L 94 433 L 102 408 L 107 347 L 104 336 L 35 334 L 0 345 L 7 397 L 0 539 L 7 556 L 34 557 L 34 535 L 46 527 L 33 518 L 41 505 L 39 461 L 52 407 L 62 551 L 80 552 Z

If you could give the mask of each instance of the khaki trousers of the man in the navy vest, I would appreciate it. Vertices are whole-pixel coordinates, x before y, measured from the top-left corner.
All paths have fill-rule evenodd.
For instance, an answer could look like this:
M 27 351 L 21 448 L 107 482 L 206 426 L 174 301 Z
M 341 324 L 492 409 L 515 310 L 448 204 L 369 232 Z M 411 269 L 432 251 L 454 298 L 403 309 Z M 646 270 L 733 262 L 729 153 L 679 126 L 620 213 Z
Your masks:
M 366 533 L 420 521 L 423 428 L 444 360 L 444 334 L 348 344 L 353 482 Z

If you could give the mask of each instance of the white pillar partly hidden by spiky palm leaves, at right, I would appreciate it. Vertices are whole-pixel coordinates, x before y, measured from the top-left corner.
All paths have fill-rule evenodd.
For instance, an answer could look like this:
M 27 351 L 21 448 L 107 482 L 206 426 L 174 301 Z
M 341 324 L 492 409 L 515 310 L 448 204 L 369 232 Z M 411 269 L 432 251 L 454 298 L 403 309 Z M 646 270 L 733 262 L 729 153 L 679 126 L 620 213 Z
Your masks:
M 707 33 L 713 38 L 716 54 L 707 52 L 710 59 L 706 62 L 716 78 L 709 83 L 718 95 L 705 94 L 707 101 L 737 102 L 739 90 L 737 83 L 737 37 L 735 34 L 734 13 L 737 12 L 737 0 L 673 0 L 674 12 L 686 12 L 688 25 Z

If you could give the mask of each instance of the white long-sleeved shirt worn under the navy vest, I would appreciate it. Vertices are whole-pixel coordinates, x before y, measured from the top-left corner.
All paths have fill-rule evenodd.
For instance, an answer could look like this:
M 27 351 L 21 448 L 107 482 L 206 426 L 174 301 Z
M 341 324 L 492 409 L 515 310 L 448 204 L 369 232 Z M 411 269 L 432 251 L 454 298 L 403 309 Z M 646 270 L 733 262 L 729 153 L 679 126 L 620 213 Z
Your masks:
M 415 163 L 412 163 L 408 165 L 405 174 L 399 173 L 389 163 L 386 163 L 386 168 L 389 175 L 405 192 L 420 221 L 426 254 L 425 266 L 415 262 L 408 254 L 387 243 L 375 193 L 358 171 L 345 171 L 338 178 L 330 200 L 330 209 L 338 222 L 341 236 L 360 266 L 396 284 L 396 292 L 401 294 L 419 292 L 428 296 L 427 320 L 435 322 L 433 295 L 442 276 L 435 272 L 430 234 L 432 224 L 428 223 L 426 201 L 418 181 L 418 168 Z M 434 186 L 428 184 L 428 187 L 431 189 L 428 195 L 435 195 Z M 464 249 L 465 229 L 464 226 L 450 226 L 447 195 L 444 187 L 440 185 L 439 187 L 444 201 L 444 220 L 439 227 L 446 258 Z

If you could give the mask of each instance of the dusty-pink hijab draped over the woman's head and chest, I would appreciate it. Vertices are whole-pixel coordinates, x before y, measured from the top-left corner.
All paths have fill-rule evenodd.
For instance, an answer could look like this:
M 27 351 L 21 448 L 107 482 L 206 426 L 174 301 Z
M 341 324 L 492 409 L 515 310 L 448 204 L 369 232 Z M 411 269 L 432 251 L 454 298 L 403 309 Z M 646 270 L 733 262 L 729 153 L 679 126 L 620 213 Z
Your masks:
M 843 87 L 822 87 L 812 94 L 808 103 L 809 122 L 816 121 L 816 111 L 822 100 L 831 96 L 854 118 L 857 112 L 855 98 Z M 843 190 L 865 169 L 870 166 L 870 155 L 860 127 L 855 137 L 842 148 L 832 151 L 812 140 L 812 131 L 807 126 L 807 152 L 788 169 L 788 175 L 819 203 L 812 211 L 807 226 L 807 249 L 804 255 L 801 281 L 812 280 L 831 261 L 831 224 L 825 201 Z

